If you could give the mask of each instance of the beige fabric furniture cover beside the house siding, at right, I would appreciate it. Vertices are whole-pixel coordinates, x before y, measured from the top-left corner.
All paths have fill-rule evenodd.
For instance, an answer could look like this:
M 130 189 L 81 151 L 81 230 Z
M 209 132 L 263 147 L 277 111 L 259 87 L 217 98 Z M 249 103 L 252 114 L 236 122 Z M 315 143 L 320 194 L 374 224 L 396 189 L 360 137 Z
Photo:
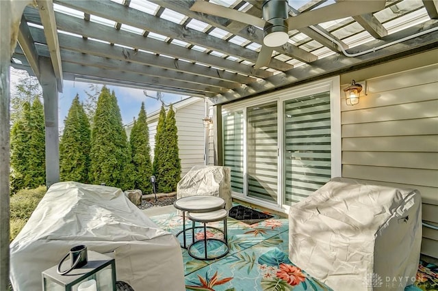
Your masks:
M 417 190 L 333 178 L 289 210 L 289 259 L 333 290 L 404 290 L 422 240 Z

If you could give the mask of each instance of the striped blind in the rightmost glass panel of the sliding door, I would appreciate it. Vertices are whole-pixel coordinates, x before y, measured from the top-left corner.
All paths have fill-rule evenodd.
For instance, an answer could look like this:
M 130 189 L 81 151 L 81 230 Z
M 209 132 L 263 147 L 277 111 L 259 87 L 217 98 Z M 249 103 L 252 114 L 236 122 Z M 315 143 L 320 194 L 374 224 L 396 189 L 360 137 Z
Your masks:
M 291 205 L 331 178 L 330 93 L 284 102 L 285 204 Z

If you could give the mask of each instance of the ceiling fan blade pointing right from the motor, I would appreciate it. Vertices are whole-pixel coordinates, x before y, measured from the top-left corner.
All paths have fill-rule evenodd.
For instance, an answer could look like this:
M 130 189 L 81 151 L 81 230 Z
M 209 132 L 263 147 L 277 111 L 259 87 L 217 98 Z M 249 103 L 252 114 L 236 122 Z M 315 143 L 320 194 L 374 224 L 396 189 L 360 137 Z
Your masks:
M 329 20 L 376 12 L 385 8 L 385 0 L 339 1 L 286 19 L 289 30 L 300 29 Z

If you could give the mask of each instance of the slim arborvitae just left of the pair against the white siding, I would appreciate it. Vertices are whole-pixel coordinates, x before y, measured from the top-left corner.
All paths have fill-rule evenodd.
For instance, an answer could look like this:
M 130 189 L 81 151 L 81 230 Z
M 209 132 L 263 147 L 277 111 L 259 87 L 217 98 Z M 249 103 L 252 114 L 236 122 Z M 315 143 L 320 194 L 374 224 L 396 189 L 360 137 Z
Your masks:
M 138 119 L 134 121 L 131 135 L 129 136 L 131 144 L 134 188 L 140 189 L 143 193 L 152 193 L 152 176 L 151 163 L 151 146 L 149 146 L 149 126 L 146 120 L 146 111 L 144 102 L 138 113 Z

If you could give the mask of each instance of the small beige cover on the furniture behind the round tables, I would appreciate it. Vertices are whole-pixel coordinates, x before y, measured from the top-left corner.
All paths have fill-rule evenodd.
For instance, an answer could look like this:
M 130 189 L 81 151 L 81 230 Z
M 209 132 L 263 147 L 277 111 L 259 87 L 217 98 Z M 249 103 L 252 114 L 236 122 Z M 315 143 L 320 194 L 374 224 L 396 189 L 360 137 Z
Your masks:
M 207 195 L 225 200 L 225 208 L 233 207 L 231 201 L 231 171 L 222 166 L 194 166 L 177 184 L 177 198 Z

